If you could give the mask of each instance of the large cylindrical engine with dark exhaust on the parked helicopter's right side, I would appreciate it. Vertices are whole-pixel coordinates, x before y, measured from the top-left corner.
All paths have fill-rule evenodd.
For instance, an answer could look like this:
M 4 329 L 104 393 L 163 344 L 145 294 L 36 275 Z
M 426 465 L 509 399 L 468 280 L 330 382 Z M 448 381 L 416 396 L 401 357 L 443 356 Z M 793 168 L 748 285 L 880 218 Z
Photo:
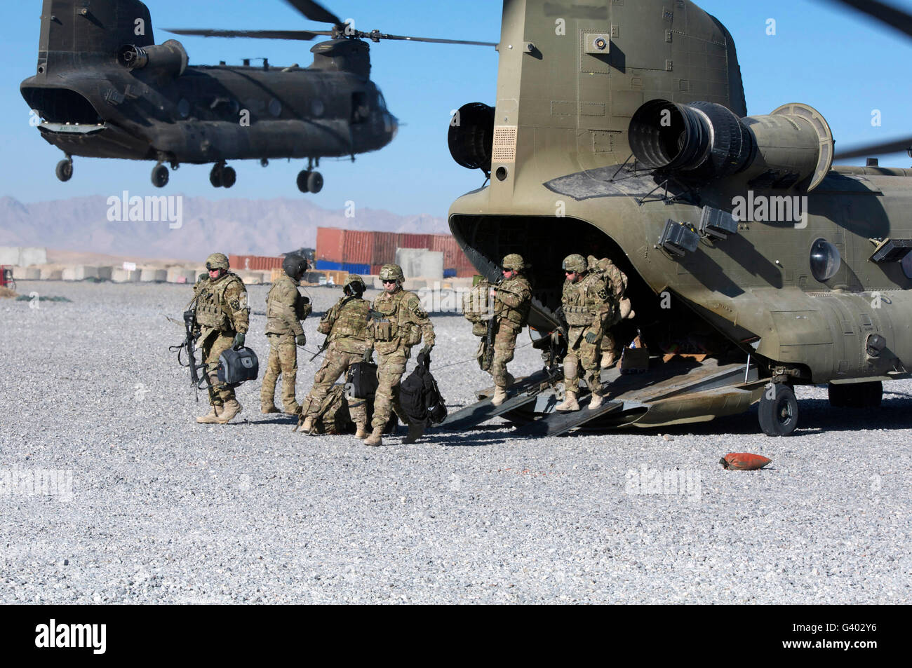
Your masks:
M 627 137 L 642 165 L 699 180 L 742 174 L 770 188 L 808 180 L 814 190 L 833 164 L 833 133 L 803 104 L 738 118 L 712 102 L 654 99 L 634 113 Z

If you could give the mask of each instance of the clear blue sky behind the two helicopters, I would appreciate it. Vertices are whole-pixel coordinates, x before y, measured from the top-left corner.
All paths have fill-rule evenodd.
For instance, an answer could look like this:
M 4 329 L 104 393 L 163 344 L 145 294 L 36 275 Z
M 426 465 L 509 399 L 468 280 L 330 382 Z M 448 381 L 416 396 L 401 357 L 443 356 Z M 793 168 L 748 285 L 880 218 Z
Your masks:
M 765 114 L 787 102 L 804 102 L 820 110 L 838 144 L 912 135 L 909 109 L 912 87 L 905 65 L 912 40 L 873 20 L 821 0 L 704 0 L 698 3 L 729 28 L 738 46 L 748 111 Z M 912 11 L 912 0 L 894 2 Z M 77 195 L 108 196 L 121 190 L 150 194 L 152 164 L 128 160 L 76 159 L 74 177 L 59 183 L 54 166 L 62 154 L 28 125 L 28 108 L 19 82 L 36 62 L 40 0 L 7 0 L 0 25 L 0 195 L 31 202 Z M 319 27 L 281 0 L 149 0 L 156 41 L 173 37 L 162 28 Z M 496 42 L 501 2 L 462 0 L 332 0 L 326 5 L 342 18 L 354 17 L 359 29 L 378 28 L 402 35 L 438 36 Z M 776 35 L 768 36 L 774 19 Z M 275 65 L 309 64 L 313 43 L 202 39 L 181 37 L 191 64 L 219 60 L 240 63 L 244 57 L 269 57 Z M 386 149 L 362 155 L 354 164 L 326 160 L 326 179 L 318 195 L 295 188 L 300 162 L 275 161 L 267 169 L 253 161 L 236 162 L 237 184 L 212 189 L 209 167 L 185 165 L 171 175 L 161 194 L 183 193 L 211 199 L 309 197 L 327 209 L 347 200 L 361 207 L 399 214 L 444 216 L 451 201 L 481 185 L 481 172 L 456 165 L 447 149 L 450 111 L 465 102 L 493 103 L 497 54 L 482 46 L 439 46 L 383 42 L 371 46 L 373 79 L 390 110 L 399 117 L 399 137 Z M 882 125 L 873 127 L 872 111 Z M 864 159 L 855 160 L 863 164 Z M 909 167 L 905 155 L 882 158 L 882 165 Z

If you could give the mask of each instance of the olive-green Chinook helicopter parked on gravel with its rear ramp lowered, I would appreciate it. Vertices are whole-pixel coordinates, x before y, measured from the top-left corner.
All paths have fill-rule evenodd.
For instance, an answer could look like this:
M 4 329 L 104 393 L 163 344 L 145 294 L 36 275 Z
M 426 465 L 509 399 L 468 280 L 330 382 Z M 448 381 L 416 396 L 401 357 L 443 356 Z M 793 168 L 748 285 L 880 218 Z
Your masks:
M 506 253 L 533 265 L 539 334 L 559 324 L 562 259 L 610 257 L 637 313 L 625 340 L 638 329 L 654 355 L 710 358 L 605 370 L 611 400 L 570 414 L 554 413 L 541 372 L 450 426 L 659 426 L 759 401 L 762 430 L 784 436 L 794 385 L 879 406 L 882 381 L 909 377 L 912 170 L 834 167 L 830 128 L 806 104 L 747 117 L 731 34 L 689 0 L 505 0 L 499 52 L 496 106 L 466 105 L 450 128 L 453 158 L 490 178 L 451 206 L 463 250 L 491 280 Z

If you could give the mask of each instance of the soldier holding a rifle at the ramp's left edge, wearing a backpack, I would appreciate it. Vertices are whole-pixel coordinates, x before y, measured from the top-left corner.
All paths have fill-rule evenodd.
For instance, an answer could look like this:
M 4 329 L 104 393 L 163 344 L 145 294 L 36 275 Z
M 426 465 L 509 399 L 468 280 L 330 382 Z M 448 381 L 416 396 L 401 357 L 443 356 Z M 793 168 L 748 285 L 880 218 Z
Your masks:
M 529 321 L 532 286 L 520 272 L 525 268 L 523 257 L 511 253 L 503 258 L 503 281 L 491 288 L 494 301 L 494 350 L 489 370 L 494 380 L 491 403 L 500 406 L 507 398 L 507 388 L 513 385 L 513 375 L 507 373 L 507 363 L 513 360 L 516 336 Z

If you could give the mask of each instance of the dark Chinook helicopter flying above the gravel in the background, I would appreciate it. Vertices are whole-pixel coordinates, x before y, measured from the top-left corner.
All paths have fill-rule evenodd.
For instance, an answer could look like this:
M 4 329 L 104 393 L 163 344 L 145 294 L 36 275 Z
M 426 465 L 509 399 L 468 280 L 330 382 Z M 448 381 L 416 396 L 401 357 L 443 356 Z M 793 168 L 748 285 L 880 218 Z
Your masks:
M 228 160 L 307 159 L 302 192 L 319 192 L 314 167 L 326 157 L 382 149 L 397 119 L 370 80 L 368 42 L 384 39 L 495 46 L 355 30 L 313 0 L 286 0 L 328 30 L 172 30 L 181 35 L 309 41 L 309 67 L 190 66 L 180 42 L 156 46 L 140 0 L 44 0 L 36 75 L 20 90 L 40 117 L 42 137 L 64 151 L 57 178 L 73 175 L 73 156 L 154 160 L 161 188 L 182 163 L 212 163 L 212 186 L 231 188 Z M 166 164 L 167 163 L 167 164 Z

